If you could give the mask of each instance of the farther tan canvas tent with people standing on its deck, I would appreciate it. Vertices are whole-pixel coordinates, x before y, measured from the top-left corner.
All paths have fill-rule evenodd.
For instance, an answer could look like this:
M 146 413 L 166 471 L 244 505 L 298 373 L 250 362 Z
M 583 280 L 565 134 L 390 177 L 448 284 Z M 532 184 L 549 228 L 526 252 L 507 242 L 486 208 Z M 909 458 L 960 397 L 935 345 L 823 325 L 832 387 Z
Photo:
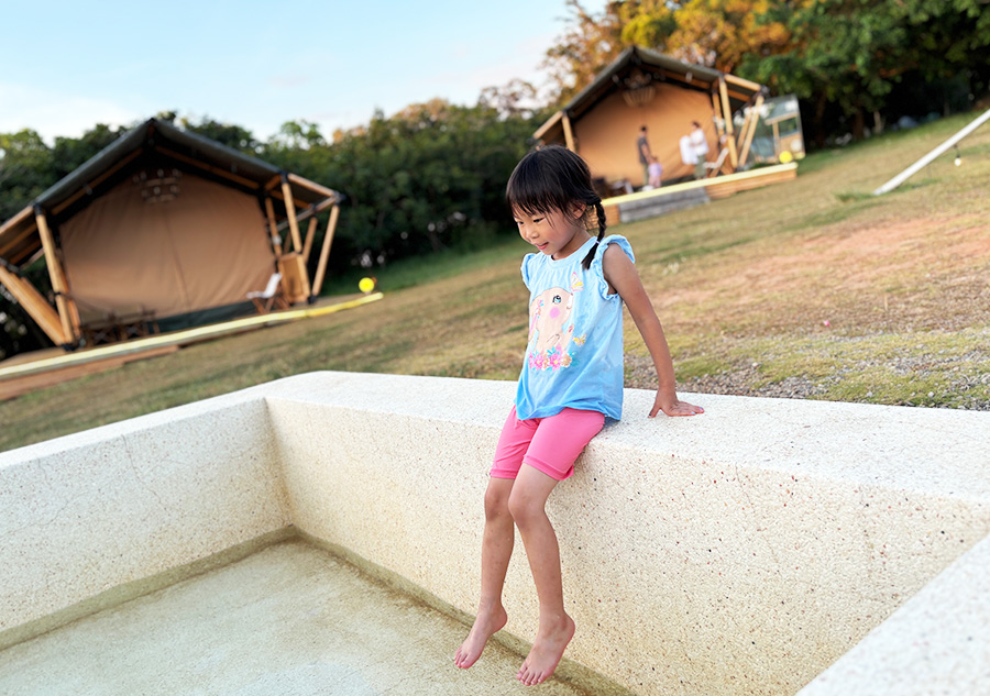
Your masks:
M 679 140 L 697 121 L 708 141 L 708 159 L 717 162 L 724 147 L 722 170 L 730 174 L 746 162 L 765 92 L 756 82 L 632 46 L 534 135 L 578 152 L 595 177 L 639 183 L 636 140 L 646 125 L 650 150 L 669 180 L 693 172 L 681 162 Z M 747 104 L 755 108 L 741 124 L 734 122 L 734 112 Z

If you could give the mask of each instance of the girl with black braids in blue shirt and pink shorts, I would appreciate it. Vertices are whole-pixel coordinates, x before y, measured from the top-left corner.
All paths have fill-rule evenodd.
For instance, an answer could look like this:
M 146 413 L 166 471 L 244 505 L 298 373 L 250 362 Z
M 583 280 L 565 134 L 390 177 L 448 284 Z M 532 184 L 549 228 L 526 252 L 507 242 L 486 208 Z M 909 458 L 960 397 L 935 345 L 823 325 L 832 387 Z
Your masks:
M 519 234 L 538 250 L 522 261 L 529 344 L 485 491 L 477 618 L 454 664 L 474 664 L 488 638 L 505 626 L 502 588 L 515 524 L 540 607 L 532 649 L 516 675 L 531 685 L 553 674 L 574 634 L 574 621 L 564 612 L 560 550 L 544 505 L 553 487 L 574 473 L 574 460 L 605 417 L 622 416 L 623 302 L 659 377 L 650 417 L 659 411 L 694 416 L 703 409 L 678 400 L 660 320 L 632 265 L 629 243 L 617 235 L 604 237 L 605 210 L 584 161 L 560 146 L 529 153 L 509 177 L 506 200 Z M 591 207 L 597 237 L 585 229 Z

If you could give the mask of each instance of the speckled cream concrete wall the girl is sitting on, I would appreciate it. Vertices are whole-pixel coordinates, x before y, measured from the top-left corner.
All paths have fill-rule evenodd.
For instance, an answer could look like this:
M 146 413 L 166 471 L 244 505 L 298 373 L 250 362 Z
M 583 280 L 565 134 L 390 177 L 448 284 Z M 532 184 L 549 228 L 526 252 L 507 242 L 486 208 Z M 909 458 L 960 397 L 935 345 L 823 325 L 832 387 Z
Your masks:
M 508 383 L 273 385 L 296 526 L 472 612 Z M 627 391 L 549 510 L 568 654 L 642 694 L 794 694 L 990 531 L 986 413 Z M 507 630 L 537 601 L 517 539 Z

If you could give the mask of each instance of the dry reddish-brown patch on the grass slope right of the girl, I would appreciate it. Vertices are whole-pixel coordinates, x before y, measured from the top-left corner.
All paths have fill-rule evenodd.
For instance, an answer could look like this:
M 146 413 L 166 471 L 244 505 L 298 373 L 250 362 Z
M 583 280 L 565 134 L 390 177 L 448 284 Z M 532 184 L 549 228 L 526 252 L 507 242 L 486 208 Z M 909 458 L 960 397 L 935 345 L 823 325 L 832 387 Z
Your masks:
M 763 334 L 954 330 L 990 322 L 990 225 L 974 217 L 826 228 L 696 264 L 658 291 L 679 329 Z M 826 324 L 827 322 L 827 324 Z

